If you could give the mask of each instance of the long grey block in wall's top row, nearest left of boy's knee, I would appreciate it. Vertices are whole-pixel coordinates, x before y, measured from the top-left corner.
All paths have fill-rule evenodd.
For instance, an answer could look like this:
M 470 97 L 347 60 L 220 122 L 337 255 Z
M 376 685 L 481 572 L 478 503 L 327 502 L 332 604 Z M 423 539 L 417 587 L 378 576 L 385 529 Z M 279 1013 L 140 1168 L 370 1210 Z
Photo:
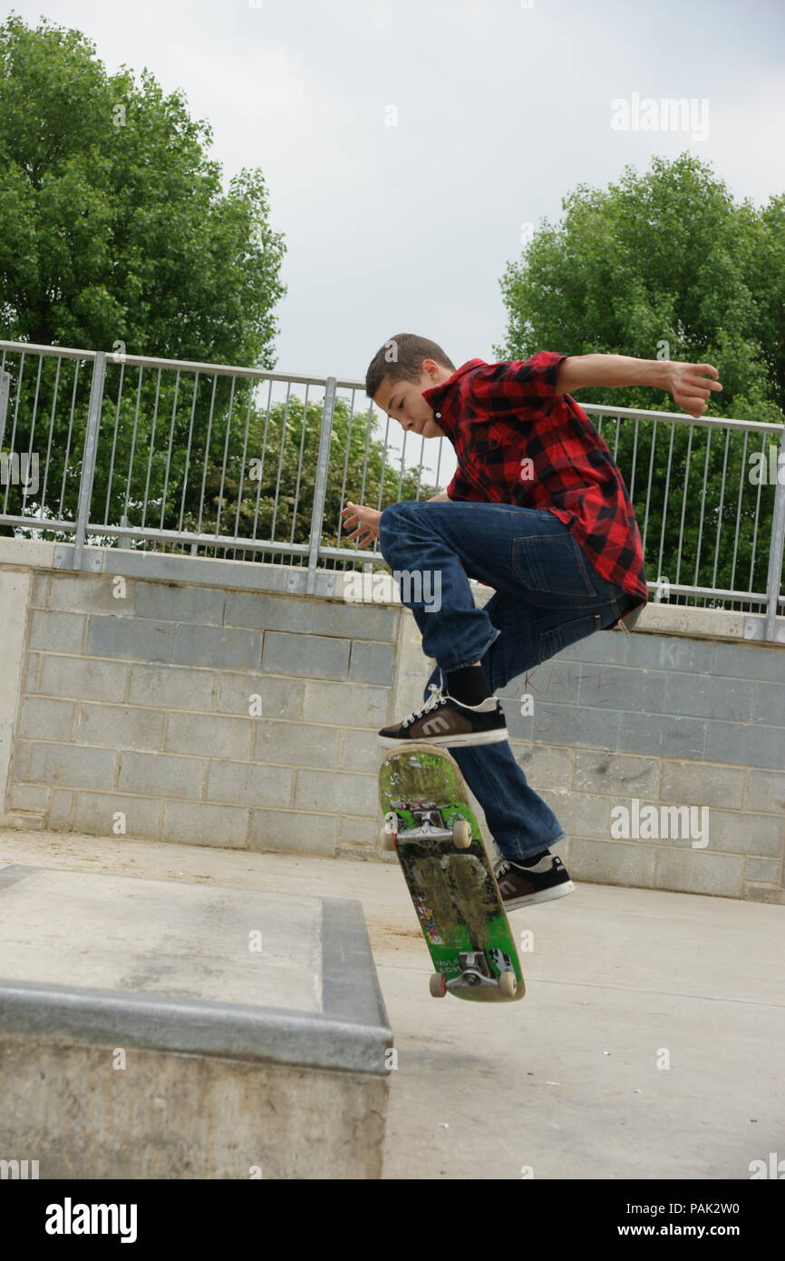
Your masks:
M 399 609 L 307 595 L 255 595 L 227 591 L 224 624 L 258 630 L 294 630 L 343 639 L 396 638 Z

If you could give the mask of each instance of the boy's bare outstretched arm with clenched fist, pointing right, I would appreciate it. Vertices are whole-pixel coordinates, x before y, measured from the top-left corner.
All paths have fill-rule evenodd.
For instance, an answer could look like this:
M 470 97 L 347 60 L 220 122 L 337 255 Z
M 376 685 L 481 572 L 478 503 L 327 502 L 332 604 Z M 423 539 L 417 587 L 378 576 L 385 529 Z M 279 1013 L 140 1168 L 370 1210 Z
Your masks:
M 714 380 L 707 380 L 707 375 Z M 558 393 L 575 393 L 588 386 L 668 390 L 674 402 L 696 419 L 706 411 L 712 391 L 722 390 L 719 373 L 711 363 L 635 359 L 629 354 L 573 354 L 562 359 L 556 372 Z

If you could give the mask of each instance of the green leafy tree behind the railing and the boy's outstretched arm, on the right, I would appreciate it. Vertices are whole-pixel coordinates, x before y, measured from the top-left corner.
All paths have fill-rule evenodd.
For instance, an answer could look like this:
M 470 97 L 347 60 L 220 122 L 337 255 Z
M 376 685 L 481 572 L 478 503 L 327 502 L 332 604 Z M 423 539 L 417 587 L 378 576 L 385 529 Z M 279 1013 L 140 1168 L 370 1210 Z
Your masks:
M 713 363 L 723 392 L 707 415 L 782 424 L 784 198 L 761 211 L 737 206 L 708 164 L 683 154 L 654 158 L 641 175 L 627 166 L 607 189 L 581 184 L 562 209 L 561 222 L 544 219 L 523 259 L 508 264 L 499 359 L 552 349 Z M 645 387 L 582 390 L 578 401 L 677 410 L 669 395 Z M 605 421 L 601 433 L 645 532 L 650 580 L 765 589 L 774 487 L 750 480 L 759 436 L 689 424 L 655 433 L 643 420 L 611 421 L 610 431 Z

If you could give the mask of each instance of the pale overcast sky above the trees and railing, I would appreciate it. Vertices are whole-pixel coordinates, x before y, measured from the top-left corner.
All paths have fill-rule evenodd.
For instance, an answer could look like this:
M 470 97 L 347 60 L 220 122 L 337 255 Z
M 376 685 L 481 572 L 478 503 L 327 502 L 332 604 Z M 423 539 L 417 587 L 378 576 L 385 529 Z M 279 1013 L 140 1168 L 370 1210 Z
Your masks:
M 147 66 L 260 166 L 285 233 L 280 371 L 364 377 L 398 332 L 493 361 L 524 224 L 578 183 L 683 150 L 737 199 L 785 190 L 785 0 L 15 0 Z M 611 102 L 708 102 L 692 131 L 611 127 Z M 697 115 L 696 115 L 697 117 Z M 707 125 L 706 125 L 707 124 Z M 708 131 L 707 136 L 702 132 Z M 570 353 L 570 347 L 548 349 Z

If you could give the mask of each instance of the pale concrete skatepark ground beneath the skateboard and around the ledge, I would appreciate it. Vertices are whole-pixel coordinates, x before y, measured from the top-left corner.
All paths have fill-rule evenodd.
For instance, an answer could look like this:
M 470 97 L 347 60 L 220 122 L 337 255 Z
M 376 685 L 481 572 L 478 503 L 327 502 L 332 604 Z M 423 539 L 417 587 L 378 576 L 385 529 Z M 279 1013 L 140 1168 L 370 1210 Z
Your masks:
M 527 995 L 489 1006 L 430 996 L 394 860 L 3 831 L 9 863 L 362 902 L 398 1053 L 388 1179 L 748 1179 L 785 1159 L 782 907 L 577 885 L 513 912 Z

